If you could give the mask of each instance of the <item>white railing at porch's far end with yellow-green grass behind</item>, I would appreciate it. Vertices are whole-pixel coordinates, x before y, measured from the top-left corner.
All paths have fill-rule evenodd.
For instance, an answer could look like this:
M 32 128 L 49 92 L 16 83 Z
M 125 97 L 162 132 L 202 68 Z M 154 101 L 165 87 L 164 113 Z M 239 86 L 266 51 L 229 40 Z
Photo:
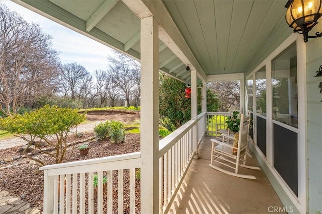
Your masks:
M 207 135 L 217 136 L 219 129 L 226 129 L 226 118 L 229 112 L 207 112 Z

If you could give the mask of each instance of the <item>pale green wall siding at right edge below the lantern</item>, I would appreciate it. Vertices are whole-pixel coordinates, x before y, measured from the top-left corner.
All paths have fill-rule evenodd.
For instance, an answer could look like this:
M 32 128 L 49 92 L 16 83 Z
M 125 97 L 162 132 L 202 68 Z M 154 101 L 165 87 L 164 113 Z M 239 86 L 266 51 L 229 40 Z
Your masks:
M 310 35 L 321 31 L 322 22 Z M 321 65 L 322 38 L 310 38 L 306 45 L 309 213 L 322 212 L 322 94 L 318 89 L 322 77 L 314 77 Z

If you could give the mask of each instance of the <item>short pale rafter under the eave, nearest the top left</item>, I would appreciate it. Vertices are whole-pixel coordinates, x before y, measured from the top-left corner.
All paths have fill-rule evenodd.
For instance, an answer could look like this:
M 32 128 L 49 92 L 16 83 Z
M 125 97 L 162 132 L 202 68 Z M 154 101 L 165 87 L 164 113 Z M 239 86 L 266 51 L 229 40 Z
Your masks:
M 119 0 L 105 0 L 103 4 L 86 21 L 86 31 L 89 32 L 116 5 Z

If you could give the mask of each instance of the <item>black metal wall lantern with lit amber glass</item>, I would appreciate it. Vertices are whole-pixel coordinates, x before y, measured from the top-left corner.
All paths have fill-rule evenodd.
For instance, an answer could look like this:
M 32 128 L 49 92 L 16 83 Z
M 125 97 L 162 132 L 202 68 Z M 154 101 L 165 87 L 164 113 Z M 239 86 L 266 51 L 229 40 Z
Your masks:
M 288 0 L 285 8 L 287 24 L 294 28 L 294 33 L 303 34 L 304 42 L 307 42 L 308 38 L 322 37 L 322 32 L 315 33 L 315 36 L 308 35 L 322 16 L 322 0 Z

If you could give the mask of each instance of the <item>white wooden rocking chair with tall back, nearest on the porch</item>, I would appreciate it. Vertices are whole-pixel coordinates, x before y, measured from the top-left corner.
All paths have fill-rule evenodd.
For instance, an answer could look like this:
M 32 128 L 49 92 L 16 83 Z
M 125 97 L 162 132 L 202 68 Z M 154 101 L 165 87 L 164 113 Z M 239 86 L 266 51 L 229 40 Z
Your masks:
M 259 167 L 245 165 L 247 157 L 247 137 L 249 131 L 249 124 L 250 117 L 245 117 L 244 115 L 241 115 L 238 145 L 236 145 L 236 143 L 234 143 L 234 145 L 231 145 L 228 143 L 220 142 L 215 139 L 211 139 L 212 149 L 211 163 L 209 164 L 210 167 L 236 177 L 256 179 L 256 177 L 252 175 L 238 174 L 239 166 L 249 169 L 260 170 Z M 219 145 L 215 146 L 216 143 Z M 214 162 L 230 167 L 234 169 L 234 172 L 215 166 L 213 165 Z

